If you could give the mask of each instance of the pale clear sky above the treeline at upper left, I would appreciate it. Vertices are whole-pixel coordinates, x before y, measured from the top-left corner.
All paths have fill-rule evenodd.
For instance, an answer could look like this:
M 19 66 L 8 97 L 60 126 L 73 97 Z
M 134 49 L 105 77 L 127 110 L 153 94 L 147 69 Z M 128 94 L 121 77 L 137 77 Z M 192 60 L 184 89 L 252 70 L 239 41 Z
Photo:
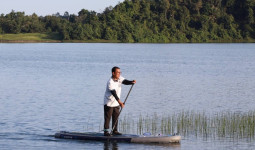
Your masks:
M 12 10 L 22 11 L 26 15 L 36 13 L 39 16 L 52 15 L 65 11 L 78 14 L 81 9 L 103 12 L 106 7 L 116 6 L 124 0 L 1 0 L 0 14 L 8 14 Z

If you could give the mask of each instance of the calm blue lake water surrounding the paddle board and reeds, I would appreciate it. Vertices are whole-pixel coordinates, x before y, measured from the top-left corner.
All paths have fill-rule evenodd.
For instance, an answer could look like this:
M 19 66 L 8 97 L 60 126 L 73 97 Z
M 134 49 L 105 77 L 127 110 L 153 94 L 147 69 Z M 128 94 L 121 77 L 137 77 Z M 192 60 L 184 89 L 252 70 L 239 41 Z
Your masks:
M 55 139 L 102 130 L 113 66 L 137 80 L 121 116 L 255 108 L 255 44 L 0 44 L 0 149 L 255 148 L 253 139 L 195 135 L 179 145 Z

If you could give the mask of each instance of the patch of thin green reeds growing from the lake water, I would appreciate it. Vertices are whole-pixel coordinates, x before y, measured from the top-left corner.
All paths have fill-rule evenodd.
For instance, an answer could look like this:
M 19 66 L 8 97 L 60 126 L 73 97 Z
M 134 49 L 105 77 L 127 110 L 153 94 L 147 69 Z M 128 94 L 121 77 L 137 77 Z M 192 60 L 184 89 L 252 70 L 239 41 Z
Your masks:
M 203 138 L 254 138 L 255 111 L 205 112 L 182 111 L 171 115 L 140 115 L 138 119 L 130 116 L 120 118 L 120 130 L 129 133 L 157 134 L 179 133 L 182 136 L 195 135 Z M 131 124 L 128 122 L 132 122 Z

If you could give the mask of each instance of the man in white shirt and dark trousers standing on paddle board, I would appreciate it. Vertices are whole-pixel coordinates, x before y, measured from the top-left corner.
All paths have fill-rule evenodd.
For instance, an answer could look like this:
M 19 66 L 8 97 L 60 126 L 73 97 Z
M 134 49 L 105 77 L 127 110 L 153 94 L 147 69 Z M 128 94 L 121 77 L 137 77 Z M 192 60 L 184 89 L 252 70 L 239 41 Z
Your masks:
M 136 80 L 129 81 L 120 76 L 120 68 L 112 68 L 112 77 L 107 81 L 106 90 L 104 95 L 104 135 L 110 136 L 109 124 L 112 117 L 112 127 L 116 122 L 116 126 L 113 129 L 114 135 L 121 135 L 118 129 L 118 116 L 120 113 L 120 107 L 123 108 L 124 104 L 120 100 L 121 84 L 131 85 L 135 84 Z

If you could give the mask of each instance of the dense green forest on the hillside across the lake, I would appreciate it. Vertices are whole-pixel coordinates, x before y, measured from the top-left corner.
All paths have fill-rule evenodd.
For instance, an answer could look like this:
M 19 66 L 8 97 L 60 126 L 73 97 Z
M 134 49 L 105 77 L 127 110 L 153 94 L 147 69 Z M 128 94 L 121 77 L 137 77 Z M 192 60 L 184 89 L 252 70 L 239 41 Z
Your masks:
M 255 0 L 125 0 L 102 13 L 50 16 L 12 11 L 0 33 L 58 33 L 61 40 L 121 42 L 254 41 Z

